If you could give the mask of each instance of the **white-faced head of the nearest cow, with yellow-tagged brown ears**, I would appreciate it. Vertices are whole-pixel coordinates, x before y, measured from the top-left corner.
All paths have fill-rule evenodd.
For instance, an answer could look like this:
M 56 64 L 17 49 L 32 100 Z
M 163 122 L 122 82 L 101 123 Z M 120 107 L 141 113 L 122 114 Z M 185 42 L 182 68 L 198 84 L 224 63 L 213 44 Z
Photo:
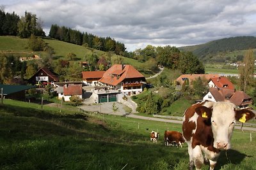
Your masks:
M 250 110 L 236 110 L 236 106 L 229 102 L 217 102 L 212 104 L 212 108 L 200 106 L 196 108 L 196 113 L 211 122 L 212 134 L 214 138 L 214 148 L 228 150 L 231 148 L 230 140 L 236 120 L 246 122 L 255 117 Z

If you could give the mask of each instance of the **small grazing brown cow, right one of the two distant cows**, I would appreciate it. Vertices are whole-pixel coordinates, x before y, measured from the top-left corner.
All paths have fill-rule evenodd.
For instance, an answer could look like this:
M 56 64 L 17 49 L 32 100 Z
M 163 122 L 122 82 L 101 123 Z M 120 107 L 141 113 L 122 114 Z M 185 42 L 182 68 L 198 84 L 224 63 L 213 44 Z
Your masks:
M 164 144 L 166 146 L 177 145 L 182 148 L 183 143 L 185 142 L 182 133 L 177 131 L 164 131 Z

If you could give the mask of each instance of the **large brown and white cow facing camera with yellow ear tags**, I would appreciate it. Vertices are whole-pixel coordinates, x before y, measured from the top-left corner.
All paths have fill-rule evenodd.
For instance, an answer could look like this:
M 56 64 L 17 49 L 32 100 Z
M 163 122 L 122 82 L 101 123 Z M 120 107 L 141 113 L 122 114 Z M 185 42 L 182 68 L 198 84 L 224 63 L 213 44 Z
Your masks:
M 184 113 L 183 136 L 188 143 L 189 169 L 210 164 L 214 169 L 221 150 L 230 149 L 236 120 L 246 122 L 255 117 L 250 110 L 236 110 L 229 102 L 193 104 Z M 203 156 L 204 153 L 204 156 Z

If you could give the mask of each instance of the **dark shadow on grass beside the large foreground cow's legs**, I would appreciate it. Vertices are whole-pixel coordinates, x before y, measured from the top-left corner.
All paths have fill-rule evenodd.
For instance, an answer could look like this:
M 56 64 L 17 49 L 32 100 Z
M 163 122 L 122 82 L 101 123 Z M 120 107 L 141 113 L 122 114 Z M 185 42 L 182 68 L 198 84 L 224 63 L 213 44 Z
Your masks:
M 244 153 L 238 152 L 237 150 L 227 150 L 220 153 L 218 162 L 215 169 L 221 169 L 225 164 L 240 164 L 245 157 L 253 157 L 252 155 L 246 155 Z

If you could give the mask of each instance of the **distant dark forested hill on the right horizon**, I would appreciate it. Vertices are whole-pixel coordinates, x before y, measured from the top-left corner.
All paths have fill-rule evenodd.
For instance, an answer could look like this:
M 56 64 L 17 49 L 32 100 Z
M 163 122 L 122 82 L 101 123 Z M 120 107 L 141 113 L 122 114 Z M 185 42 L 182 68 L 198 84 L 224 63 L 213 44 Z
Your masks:
M 218 52 L 234 52 L 237 50 L 248 50 L 256 48 L 256 37 L 254 36 L 237 36 L 232 38 L 223 38 L 210 41 L 202 45 L 182 46 L 182 51 L 191 51 L 199 58 L 204 58 L 209 54 Z

